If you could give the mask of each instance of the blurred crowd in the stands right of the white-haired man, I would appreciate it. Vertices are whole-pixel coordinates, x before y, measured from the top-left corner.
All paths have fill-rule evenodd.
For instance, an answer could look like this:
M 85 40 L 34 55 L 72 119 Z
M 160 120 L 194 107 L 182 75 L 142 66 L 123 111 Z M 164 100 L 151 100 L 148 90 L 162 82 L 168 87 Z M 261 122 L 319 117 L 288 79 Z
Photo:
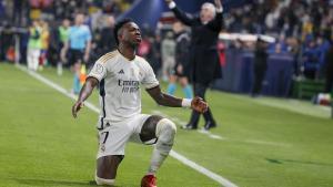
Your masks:
M 295 75 L 320 79 L 324 75 L 331 48 L 333 1 L 256 0 L 225 14 L 226 32 L 268 34 L 276 39 L 269 53 L 290 53 Z M 238 48 L 249 48 L 234 43 Z

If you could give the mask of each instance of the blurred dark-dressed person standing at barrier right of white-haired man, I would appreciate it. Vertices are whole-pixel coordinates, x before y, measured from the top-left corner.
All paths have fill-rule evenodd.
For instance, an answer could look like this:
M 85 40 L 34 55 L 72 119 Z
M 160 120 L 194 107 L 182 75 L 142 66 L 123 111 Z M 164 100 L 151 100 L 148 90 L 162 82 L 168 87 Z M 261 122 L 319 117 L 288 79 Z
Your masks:
M 266 42 L 258 38 L 254 51 L 254 84 L 252 87 L 252 96 L 258 96 L 261 92 L 263 80 L 265 77 L 268 69 L 268 58 L 269 54 L 266 52 Z

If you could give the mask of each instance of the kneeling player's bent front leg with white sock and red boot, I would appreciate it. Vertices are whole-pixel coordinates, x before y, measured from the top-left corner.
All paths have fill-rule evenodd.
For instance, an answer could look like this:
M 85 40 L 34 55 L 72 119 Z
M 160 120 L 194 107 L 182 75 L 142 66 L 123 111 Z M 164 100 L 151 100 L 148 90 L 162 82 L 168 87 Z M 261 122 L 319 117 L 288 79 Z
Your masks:
M 176 132 L 173 122 L 158 115 L 150 116 L 142 125 L 140 138 L 148 142 L 157 138 L 148 174 L 142 178 L 141 186 L 155 186 L 155 173 L 168 157 Z

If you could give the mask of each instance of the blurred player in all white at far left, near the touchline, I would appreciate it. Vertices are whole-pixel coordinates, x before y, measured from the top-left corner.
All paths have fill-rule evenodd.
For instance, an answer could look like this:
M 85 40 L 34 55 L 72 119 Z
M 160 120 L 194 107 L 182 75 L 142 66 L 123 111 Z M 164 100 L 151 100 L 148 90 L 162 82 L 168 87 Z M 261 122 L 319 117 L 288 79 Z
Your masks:
M 39 58 L 41 52 L 41 28 L 38 20 L 32 21 L 29 29 L 29 43 L 28 43 L 28 69 L 37 71 L 39 66 Z

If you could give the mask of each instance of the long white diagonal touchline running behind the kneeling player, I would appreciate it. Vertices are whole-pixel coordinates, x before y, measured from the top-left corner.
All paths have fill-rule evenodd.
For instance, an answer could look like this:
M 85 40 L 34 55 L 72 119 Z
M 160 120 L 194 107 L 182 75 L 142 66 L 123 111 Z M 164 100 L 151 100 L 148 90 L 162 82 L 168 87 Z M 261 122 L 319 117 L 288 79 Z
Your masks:
M 60 85 L 58 85 L 57 83 L 48 80 L 47 77 L 44 77 L 44 76 L 42 76 L 42 75 L 40 75 L 36 72 L 29 71 L 29 70 L 27 70 L 26 67 L 23 67 L 21 65 L 17 65 L 17 67 L 20 69 L 21 71 L 28 73 L 29 75 L 33 76 L 34 79 L 41 81 L 42 83 L 49 85 L 50 87 L 57 90 L 58 92 L 64 94 L 65 96 L 72 98 L 72 100 L 77 100 L 77 96 L 74 94 L 69 93 L 65 89 L 63 89 Z M 97 106 L 94 106 L 93 104 L 91 104 L 90 102 L 85 101 L 84 104 L 88 108 L 92 110 L 93 112 L 95 112 L 95 113 L 100 112 L 100 110 Z M 225 187 L 238 187 L 235 184 L 231 183 L 226 178 L 223 178 L 222 176 L 204 168 L 203 166 L 190 160 L 189 158 L 184 157 L 183 155 L 181 155 L 181 154 L 179 154 L 174 150 L 170 152 L 170 156 L 172 156 L 173 158 L 178 159 L 182 164 L 193 168 L 194 170 L 208 176 L 209 178 L 218 181 L 219 184 L 221 184 Z

